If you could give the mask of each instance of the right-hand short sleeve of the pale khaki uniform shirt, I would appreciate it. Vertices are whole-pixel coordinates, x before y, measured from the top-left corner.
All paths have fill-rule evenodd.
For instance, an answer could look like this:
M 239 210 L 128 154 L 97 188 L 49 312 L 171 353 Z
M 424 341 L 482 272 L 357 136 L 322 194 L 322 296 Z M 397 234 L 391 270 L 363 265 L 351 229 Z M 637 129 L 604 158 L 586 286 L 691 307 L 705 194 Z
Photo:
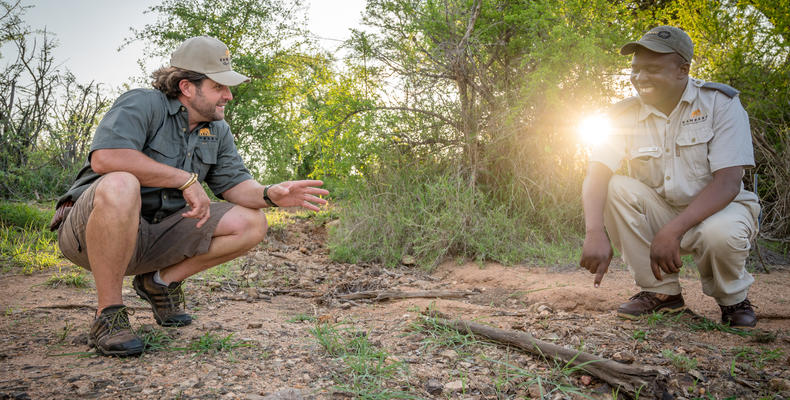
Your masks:
M 754 167 L 749 116 L 740 99 L 716 94 L 713 138 L 708 143 L 711 172 L 727 167 Z

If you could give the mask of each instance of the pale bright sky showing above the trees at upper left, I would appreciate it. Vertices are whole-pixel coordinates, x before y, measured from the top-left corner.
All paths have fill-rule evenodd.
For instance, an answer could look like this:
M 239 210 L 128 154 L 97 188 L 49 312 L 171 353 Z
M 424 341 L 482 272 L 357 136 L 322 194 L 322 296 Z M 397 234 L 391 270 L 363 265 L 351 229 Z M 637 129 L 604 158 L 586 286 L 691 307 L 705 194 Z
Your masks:
M 55 33 L 58 47 L 55 61 L 63 64 L 78 82 L 91 80 L 118 87 L 130 77 L 140 76 L 137 60 L 143 55 L 143 44 L 136 42 L 120 52 L 118 47 L 131 36 L 129 28 L 142 28 L 155 20 L 143 14 L 157 0 L 23 0 L 31 5 L 24 20 L 32 28 L 47 28 Z M 346 39 L 349 29 L 357 27 L 365 0 L 312 0 L 307 4 L 308 27 L 325 38 Z M 321 41 L 334 50 L 338 42 Z M 147 68 L 166 64 L 167 60 L 151 61 Z M 150 72 L 150 71 L 146 71 Z

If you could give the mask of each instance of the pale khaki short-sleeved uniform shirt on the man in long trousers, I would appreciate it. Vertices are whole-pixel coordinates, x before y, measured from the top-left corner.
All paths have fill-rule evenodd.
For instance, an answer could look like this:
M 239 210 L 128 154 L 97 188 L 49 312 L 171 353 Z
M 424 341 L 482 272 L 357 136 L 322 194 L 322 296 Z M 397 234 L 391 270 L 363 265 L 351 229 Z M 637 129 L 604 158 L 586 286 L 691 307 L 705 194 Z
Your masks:
M 612 135 L 593 149 L 590 161 L 654 188 L 673 206 L 687 206 L 719 169 L 754 166 L 749 118 L 737 94 L 730 98 L 689 78 L 670 115 L 631 98 L 613 107 Z M 735 201 L 757 201 L 743 189 Z

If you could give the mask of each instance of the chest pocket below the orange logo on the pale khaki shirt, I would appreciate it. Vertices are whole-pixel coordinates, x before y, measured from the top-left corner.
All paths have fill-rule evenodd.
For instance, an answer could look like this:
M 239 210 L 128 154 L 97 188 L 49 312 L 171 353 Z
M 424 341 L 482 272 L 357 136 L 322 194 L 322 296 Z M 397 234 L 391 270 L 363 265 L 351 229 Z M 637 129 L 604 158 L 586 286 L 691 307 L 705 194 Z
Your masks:
M 710 126 L 682 127 L 675 139 L 676 154 L 680 158 L 682 173 L 689 179 L 697 180 L 710 175 L 708 161 L 708 142 L 713 138 Z

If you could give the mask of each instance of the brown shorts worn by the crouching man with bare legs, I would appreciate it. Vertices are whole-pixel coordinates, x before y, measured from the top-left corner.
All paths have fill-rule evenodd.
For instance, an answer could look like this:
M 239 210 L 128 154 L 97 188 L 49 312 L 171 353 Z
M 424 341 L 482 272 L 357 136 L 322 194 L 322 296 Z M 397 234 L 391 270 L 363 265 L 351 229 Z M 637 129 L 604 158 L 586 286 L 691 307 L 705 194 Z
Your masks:
M 58 227 L 60 251 L 71 262 L 90 270 L 86 251 L 85 226 L 93 210 L 93 196 L 101 178 L 96 180 L 74 203 Z M 233 208 L 231 203 L 211 203 L 211 217 L 200 229 L 198 220 L 181 216 L 189 207 L 173 213 L 158 224 L 140 217 L 137 244 L 126 275 L 138 275 L 169 267 L 187 258 L 206 253 L 220 219 Z

